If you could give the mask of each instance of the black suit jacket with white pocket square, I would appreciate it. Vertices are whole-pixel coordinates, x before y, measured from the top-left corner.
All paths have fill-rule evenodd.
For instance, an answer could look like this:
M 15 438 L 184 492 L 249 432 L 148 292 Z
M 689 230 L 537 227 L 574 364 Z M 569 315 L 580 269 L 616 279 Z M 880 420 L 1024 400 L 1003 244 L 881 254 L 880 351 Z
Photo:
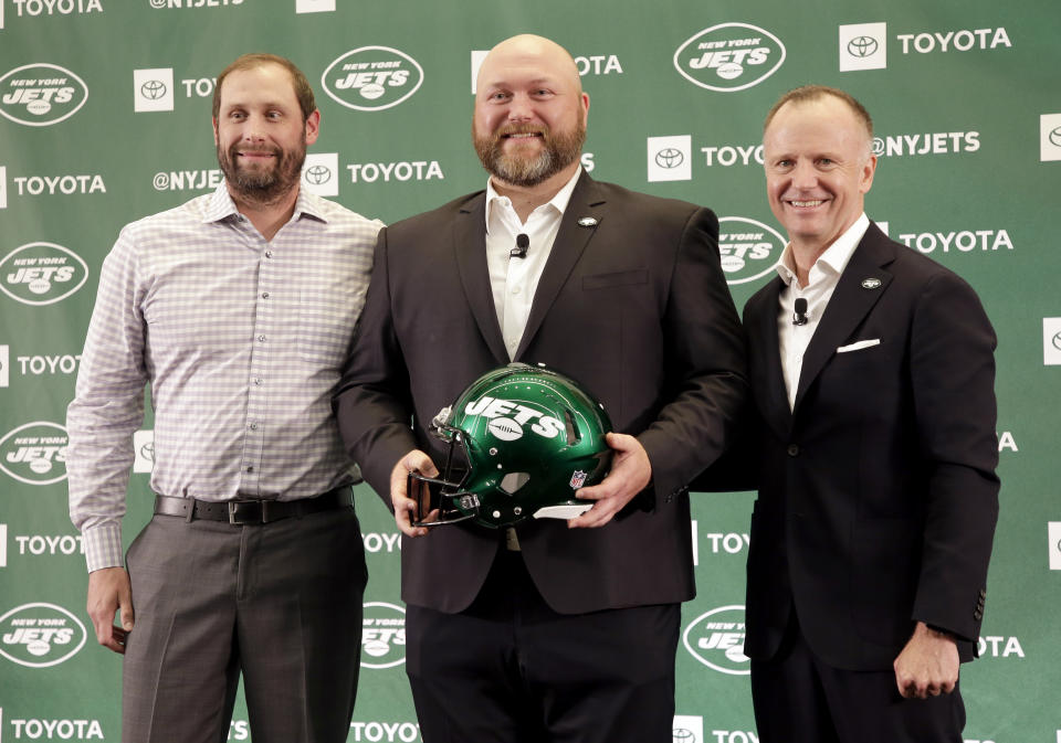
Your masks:
M 890 668 L 916 620 L 954 633 L 967 660 L 998 516 L 990 322 L 964 280 L 871 224 L 790 411 L 782 286 L 775 278 L 744 312 L 760 418 L 745 652 L 773 657 L 795 608 L 834 667 Z

